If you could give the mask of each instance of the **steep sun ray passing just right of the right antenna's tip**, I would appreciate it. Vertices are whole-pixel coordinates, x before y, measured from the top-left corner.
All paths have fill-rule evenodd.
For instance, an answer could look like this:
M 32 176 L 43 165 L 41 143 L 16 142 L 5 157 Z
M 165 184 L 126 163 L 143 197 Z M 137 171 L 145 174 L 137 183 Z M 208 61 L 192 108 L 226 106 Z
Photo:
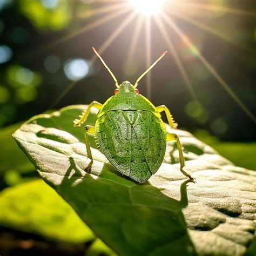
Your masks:
M 193 90 L 192 84 L 191 84 L 190 80 L 188 79 L 186 70 L 185 70 L 183 64 L 181 63 L 181 60 L 180 60 L 180 58 L 178 56 L 178 53 L 177 53 L 177 51 L 176 51 L 176 49 L 175 49 L 175 47 L 174 47 L 174 45 L 173 45 L 173 43 L 172 43 L 172 41 L 170 39 L 170 37 L 169 37 L 165 27 L 164 27 L 163 22 L 159 19 L 159 17 L 154 17 L 154 18 L 156 20 L 156 23 L 157 23 L 159 29 L 160 29 L 161 34 L 164 37 L 164 40 L 165 40 L 166 44 L 169 47 L 169 50 L 171 51 L 171 53 L 172 53 L 172 55 L 174 57 L 174 61 L 176 62 L 176 65 L 178 66 L 178 69 L 180 71 L 180 75 L 183 78 L 184 83 L 185 83 L 185 85 L 188 88 L 188 91 L 190 92 L 192 98 L 194 100 L 198 101 L 198 97 L 196 95 L 196 92 L 194 92 L 194 90 Z

